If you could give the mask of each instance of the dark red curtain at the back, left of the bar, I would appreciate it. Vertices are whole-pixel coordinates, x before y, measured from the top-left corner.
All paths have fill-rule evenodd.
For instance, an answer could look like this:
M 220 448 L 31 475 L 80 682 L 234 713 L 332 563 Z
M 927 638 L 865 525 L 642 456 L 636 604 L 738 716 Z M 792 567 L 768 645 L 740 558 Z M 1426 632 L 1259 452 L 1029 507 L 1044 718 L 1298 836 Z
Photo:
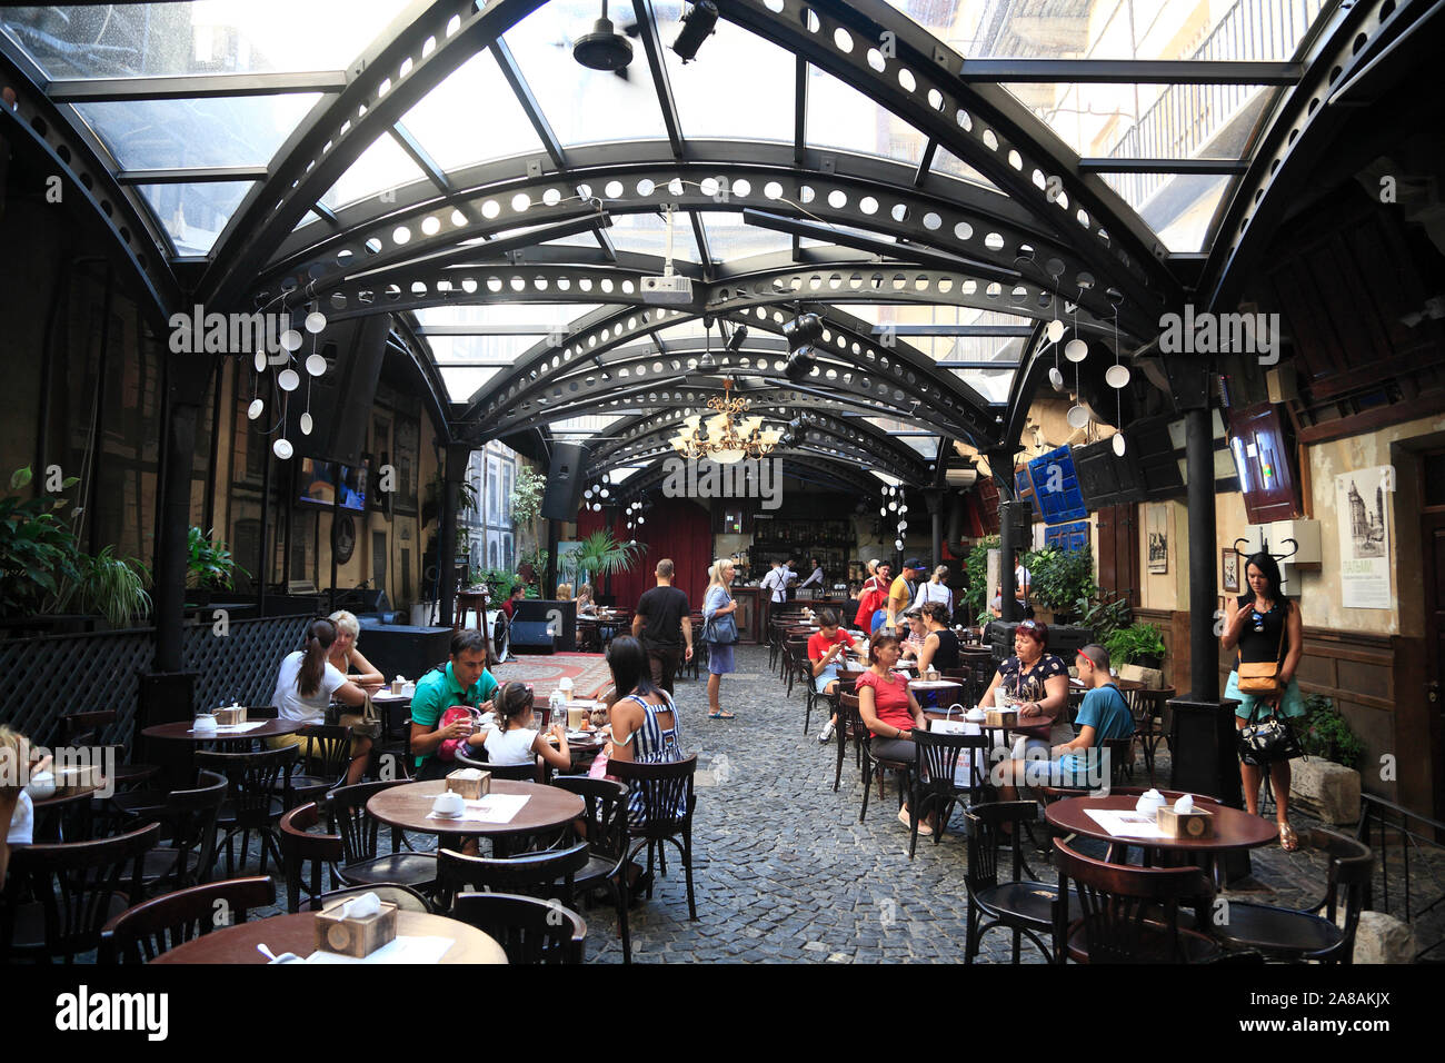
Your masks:
M 702 593 L 708 586 L 708 565 L 714 561 L 712 518 L 708 511 L 691 499 L 660 498 L 646 512 L 646 521 L 637 528 L 636 538 L 647 547 L 647 551 L 636 568 L 613 577 L 611 593 L 617 597 L 617 606 L 636 607 L 642 593 L 657 586 L 657 579 L 653 576 L 657 561 L 670 557 L 676 567 L 672 584 L 686 593 L 688 603 L 694 609 L 701 609 Z M 616 511 L 604 509 L 594 513 L 585 509 L 578 515 L 578 538 L 601 528 L 610 529 L 618 542 L 626 542 L 629 538 L 627 522 Z M 594 590 L 598 594 L 605 593 L 605 586 Z

